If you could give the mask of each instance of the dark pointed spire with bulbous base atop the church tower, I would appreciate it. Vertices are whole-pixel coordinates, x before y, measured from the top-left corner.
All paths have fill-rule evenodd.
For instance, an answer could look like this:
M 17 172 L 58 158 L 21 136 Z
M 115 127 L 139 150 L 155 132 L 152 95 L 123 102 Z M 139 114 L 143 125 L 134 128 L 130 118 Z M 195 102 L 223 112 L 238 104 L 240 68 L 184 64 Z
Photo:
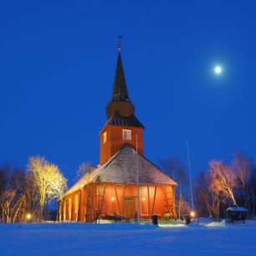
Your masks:
M 120 116 L 129 117 L 134 114 L 134 110 L 134 105 L 131 103 L 128 95 L 125 82 L 125 73 L 119 51 L 115 69 L 115 81 L 112 97 L 106 107 L 107 119 L 109 120 L 111 115 L 115 113 L 119 114 Z

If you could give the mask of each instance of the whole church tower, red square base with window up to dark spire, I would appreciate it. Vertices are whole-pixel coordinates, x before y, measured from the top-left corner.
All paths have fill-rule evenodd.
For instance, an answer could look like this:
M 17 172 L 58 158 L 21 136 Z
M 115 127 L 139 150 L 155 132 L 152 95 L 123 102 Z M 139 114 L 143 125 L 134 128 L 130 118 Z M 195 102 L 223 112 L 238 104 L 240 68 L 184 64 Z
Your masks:
M 107 121 L 100 131 L 100 165 L 129 144 L 143 154 L 143 125 L 136 118 L 125 82 L 125 73 L 118 48 L 115 80 L 110 101 L 106 107 Z

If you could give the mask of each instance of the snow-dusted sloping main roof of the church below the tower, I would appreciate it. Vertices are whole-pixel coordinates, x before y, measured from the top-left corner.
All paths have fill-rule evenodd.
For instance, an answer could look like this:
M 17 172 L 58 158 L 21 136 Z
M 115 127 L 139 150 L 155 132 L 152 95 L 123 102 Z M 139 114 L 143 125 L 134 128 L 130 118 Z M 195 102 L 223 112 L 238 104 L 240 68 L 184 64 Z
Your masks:
M 137 183 L 137 161 L 140 184 L 154 185 L 172 185 L 177 186 L 177 183 L 167 176 L 157 166 L 147 160 L 145 156 L 136 153 L 136 150 L 126 144 L 120 151 L 106 161 L 104 165 L 86 173 L 81 179 L 70 187 L 66 194 L 75 192 L 79 188 L 84 187 L 88 182 L 105 182 L 105 183 Z

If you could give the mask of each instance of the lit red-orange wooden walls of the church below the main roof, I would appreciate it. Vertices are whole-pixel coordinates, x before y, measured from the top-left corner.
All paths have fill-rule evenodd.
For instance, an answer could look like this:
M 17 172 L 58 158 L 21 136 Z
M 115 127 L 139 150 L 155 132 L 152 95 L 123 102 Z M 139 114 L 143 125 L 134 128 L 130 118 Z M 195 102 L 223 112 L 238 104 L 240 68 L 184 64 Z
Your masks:
M 75 196 L 79 196 L 78 219 L 75 212 Z M 90 198 L 89 198 L 90 197 Z M 70 201 L 71 199 L 71 201 Z M 130 212 L 127 212 L 127 202 L 130 203 Z M 91 202 L 90 207 L 87 202 Z M 129 202 L 130 201 L 130 202 Z M 66 220 L 69 221 L 69 203 L 71 202 L 71 221 L 92 222 L 95 220 L 96 211 L 101 218 L 113 216 L 115 212 L 120 215 L 130 214 L 134 218 L 137 212 L 137 186 L 136 184 L 112 184 L 94 183 L 88 187 L 80 189 L 78 192 L 66 197 Z M 174 188 L 161 185 L 140 184 L 140 206 L 141 218 L 151 218 L 157 214 L 159 218 L 164 218 L 166 213 L 170 213 L 172 218 L 176 218 L 174 205 Z

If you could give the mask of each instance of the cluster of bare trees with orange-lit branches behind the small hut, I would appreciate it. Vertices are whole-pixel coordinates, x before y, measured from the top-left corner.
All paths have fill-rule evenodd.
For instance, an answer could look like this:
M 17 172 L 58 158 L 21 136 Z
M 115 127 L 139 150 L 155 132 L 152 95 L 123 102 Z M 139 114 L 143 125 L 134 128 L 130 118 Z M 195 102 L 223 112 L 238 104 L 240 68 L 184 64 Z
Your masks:
M 235 153 L 231 164 L 210 161 L 208 172 L 197 178 L 197 206 L 203 215 L 218 220 L 220 208 L 230 205 L 247 207 L 254 216 L 256 169 L 253 160 L 241 152 Z M 223 213 L 223 212 L 221 212 Z

